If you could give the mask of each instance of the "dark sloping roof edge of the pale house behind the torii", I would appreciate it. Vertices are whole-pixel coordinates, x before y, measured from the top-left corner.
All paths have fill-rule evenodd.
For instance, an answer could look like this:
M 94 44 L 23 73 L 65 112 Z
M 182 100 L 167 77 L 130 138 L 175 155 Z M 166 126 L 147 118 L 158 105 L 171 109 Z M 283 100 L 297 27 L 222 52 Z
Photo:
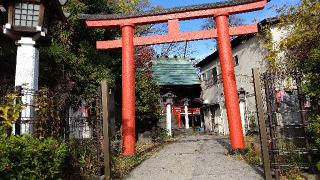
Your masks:
M 277 17 L 272 17 L 272 18 L 267 18 L 258 23 L 259 28 L 266 26 L 266 25 L 272 25 L 276 24 L 279 22 L 279 18 Z M 231 41 L 231 46 L 232 48 L 235 48 L 239 45 L 241 45 L 245 40 L 250 39 L 251 37 L 255 36 L 256 34 L 248 34 L 248 35 L 242 35 L 234 38 Z M 214 59 L 219 58 L 219 52 L 216 50 L 214 53 L 210 54 L 206 58 L 204 58 L 202 61 L 198 62 L 196 64 L 196 67 L 202 67 L 208 64 L 210 61 L 213 61 Z

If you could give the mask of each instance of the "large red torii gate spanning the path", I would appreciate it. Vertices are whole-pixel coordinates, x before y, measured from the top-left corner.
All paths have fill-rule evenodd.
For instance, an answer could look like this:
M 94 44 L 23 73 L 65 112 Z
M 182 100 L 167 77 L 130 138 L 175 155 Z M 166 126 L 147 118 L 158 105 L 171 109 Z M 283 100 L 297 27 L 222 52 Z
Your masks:
M 229 27 L 228 18 L 231 14 L 263 9 L 267 1 L 233 0 L 132 15 L 82 15 L 82 19 L 86 19 L 88 27 L 120 27 L 122 30 L 121 40 L 97 41 L 97 49 L 122 47 L 122 136 L 124 155 L 132 156 L 135 152 L 134 46 L 212 38 L 218 40 L 231 145 L 233 149 L 244 148 L 230 36 L 256 33 L 258 27 L 256 24 Z M 214 17 L 216 29 L 194 32 L 180 31 L 180 20 L 207 17 Z M 135 26 L 137 25 L 165 22 L 168 23 L 168 34 L 166 35 L 134 37 Z

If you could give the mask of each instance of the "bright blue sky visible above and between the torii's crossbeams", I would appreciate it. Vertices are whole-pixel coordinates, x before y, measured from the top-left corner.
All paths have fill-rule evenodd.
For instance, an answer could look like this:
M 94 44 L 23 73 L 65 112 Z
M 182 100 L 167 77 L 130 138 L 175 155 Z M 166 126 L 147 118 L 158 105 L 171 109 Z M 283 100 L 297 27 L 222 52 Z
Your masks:
M 150 0 L 151 4 L 154 6 L 162 6 L 163 8 L 188 6 L 203 3 L 213 3 L 225 0 Z M 300 0 L 271 0 L 264 10 L 244 13 L 239 16 L 244 19 L 245 24 L 250 24 L 254 20 L 261 21 L 268 17 L 276 16 L 275 7 L 282 7 L 284 5 L 297 5 Z M 194 31 L 200 30 L 201 25 L 204 23 L 203 19 L 184 21 L 180 23 L 181 31 Z M 213 40 L 201 40 L 193 41 L 191 43 L 192 50 L 194 53 L 192 57 L 200 60 L 210 55 L 215 51 L 215 43 Z M 157 49 L 157 46 L 155 46 Z

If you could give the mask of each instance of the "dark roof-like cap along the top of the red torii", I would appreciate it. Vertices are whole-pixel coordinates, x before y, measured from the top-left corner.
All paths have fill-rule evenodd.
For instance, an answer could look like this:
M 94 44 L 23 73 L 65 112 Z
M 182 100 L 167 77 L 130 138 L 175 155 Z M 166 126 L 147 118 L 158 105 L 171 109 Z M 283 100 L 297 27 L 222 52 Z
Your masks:
M 80 19 L 85 19 L 85 20 L 102 20 L 102 19 L 116 20 L 116 19 L 153 16 L 153 15 L 163 15 L 163 14 L 170 14 L 170 13 L 179 13 L 179 12 L 186 12 L 186 11 L 205 10 L 205 9 L 212 9 L 212 8 L 222 8 L 222 7 L 228 7 L 228 6 L 242 5 L 246 3 L 254 3 L 259 1 L 261 0 L 229 0 L 229 1 L 206 3 L 206 4 L 200 4 L 200 5 L 160 9 L 157 11 L 138 12 L 134 14 L 81 14 L 79 16 L 80 16 Z M 267 0 L 267 1 L 269 2 L 270 0 Z

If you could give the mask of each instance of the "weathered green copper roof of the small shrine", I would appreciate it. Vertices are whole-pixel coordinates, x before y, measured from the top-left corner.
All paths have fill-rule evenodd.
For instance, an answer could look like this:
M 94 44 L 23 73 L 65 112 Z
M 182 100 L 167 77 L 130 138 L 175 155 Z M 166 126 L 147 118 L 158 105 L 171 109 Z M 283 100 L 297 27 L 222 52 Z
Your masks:
M 152 61 L 152 71 L 158 85 L 200 84 L 196 69 L 189 60 L 156 59 Z

